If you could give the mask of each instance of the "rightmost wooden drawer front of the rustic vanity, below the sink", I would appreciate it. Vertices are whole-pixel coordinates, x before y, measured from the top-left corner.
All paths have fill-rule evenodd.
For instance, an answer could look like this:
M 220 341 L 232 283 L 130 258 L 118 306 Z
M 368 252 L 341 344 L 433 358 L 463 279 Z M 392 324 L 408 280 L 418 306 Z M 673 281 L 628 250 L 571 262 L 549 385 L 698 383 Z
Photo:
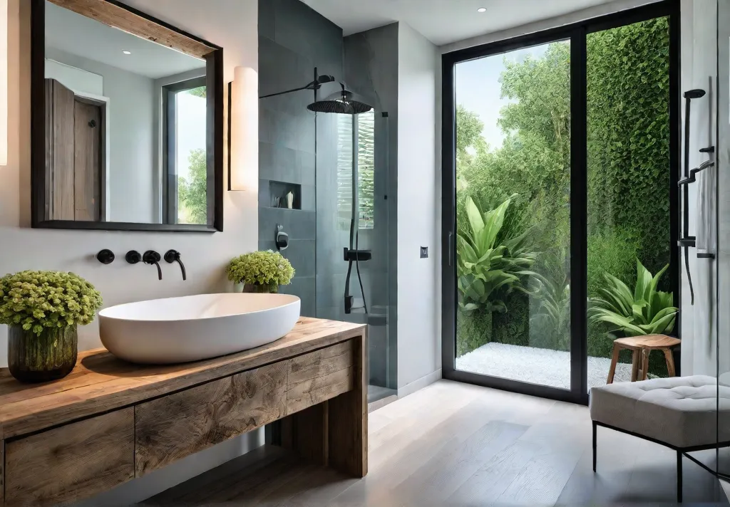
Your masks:
M 353 390 L 356 387 L 354 366 L 353 340 L 289 360 L 287 414 Z

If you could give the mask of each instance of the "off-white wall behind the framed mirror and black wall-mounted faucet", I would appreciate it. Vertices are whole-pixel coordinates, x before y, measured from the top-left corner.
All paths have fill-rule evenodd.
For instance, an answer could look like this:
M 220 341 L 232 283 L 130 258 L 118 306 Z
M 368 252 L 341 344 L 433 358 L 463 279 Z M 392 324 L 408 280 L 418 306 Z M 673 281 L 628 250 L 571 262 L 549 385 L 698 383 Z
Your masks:
M 258 70 L 256 0 L 130 0 L 128 3 L 224 47 L 225 82 L 233 78 L 234 66 Z M 74 271 L 96 285 L 104 297 L 105 306 L 149 298 L 232 290 L 223 271 L 226 262 L 234 255 L 250 252 L 257 247 L 255 192 L 224 193 L 223 233 L 126 233 L 29 228 L 30 2 L 9 0 L 8 4 L 9 135 L 8 164 L 0 167 L 0 274 L 23 269 Z M 247 102 L 252 104 L 250 114 L 258 117 L 258 110 L 253 105 L 258 101 L 254 98 Z M 252 167 L 250 171 L 258 171 L 258 167 Z M 110 248 L 117 255 L 117 260 L 109 266 L 93 258 L 102 248 Z M 164 265 L 164 279 L 158 281 L 155 268 L 141 264 L 131 266 L 123 260 L 128 249 L 140 252 L 155 249 L 164 253 L 169 248 L 182 252 L 188 269 L 187 282 L 183 282 L 176 266 Z M 99 347 L 97 323 L 80 328 L 79 338 L 82 350 Z M 5 365 L 7 328 L 0 325 L 0 366 Z M 248 439 L 258 437 L 256 433 Z M 165 468 L 160 473 L 132 481 L 120 487 L 103 504 L 126 505 L 142 500 L 240 454 L 248 448 L 248 442 L 242 438 L 228 441 L 200 457 L 196 455 L 183 460 L 175 469 Z

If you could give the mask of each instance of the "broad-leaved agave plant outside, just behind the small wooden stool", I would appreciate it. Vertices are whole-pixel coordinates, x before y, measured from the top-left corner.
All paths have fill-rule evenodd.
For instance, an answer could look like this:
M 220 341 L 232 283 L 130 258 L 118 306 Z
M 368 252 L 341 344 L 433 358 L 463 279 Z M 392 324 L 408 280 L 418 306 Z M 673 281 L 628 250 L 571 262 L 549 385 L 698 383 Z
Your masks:
M 678 309 L 672 293 L 656 290 L 659 279 L 669 264 L 656 276 L 637 259 L 637 285 L 634 293 L 611 274 L 604 274 L 606 287 L 599 289 L 600 297 L 588 298 L 588 320 L 608 322 L 618 326 L 627 336 L 667 334 L 675 327 Z

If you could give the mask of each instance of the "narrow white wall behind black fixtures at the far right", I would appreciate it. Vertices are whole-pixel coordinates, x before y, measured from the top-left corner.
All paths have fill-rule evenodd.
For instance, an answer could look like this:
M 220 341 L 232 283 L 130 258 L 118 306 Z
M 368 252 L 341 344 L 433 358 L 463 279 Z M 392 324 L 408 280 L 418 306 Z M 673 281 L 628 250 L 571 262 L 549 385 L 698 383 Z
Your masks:
M 693 88 L 707 91 L 706 96 L 692 101 L 689 161 L 693 168 L 707 160 L 707 155 L 699 153 L 699 149 L 716 144 L 717 0 L 682 0 L 680 9 L 681 89 L 683 92 Z M 682 114 L 684 125 L 684 99 Z M 691 236 L 696 231 L 698 187 L 689 185 L 688 191 Z M 682 258 L 682 374 L 715 375 L 715 261 L 698 259 L 694 248 L 689 249 L 689 259 L 695 301 L 692 305 Z

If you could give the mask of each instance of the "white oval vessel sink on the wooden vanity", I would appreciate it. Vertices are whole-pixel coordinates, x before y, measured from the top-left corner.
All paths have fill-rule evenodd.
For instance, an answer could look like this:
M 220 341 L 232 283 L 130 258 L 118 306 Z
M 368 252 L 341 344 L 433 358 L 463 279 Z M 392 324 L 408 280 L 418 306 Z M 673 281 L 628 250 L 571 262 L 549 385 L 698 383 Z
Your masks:
M 99 312 L 104 347 L 131 363 L 186 363 L 261 347 L 299 319 L 286 294 L 199 294 L 127 303 Z

